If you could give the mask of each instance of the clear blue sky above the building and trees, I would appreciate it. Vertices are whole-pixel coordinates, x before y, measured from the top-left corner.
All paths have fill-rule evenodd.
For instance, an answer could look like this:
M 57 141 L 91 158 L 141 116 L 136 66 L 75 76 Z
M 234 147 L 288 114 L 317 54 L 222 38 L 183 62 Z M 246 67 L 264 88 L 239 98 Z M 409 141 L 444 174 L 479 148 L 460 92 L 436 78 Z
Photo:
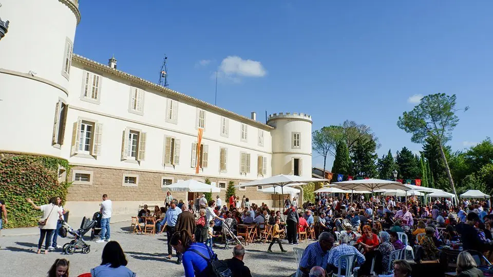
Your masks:
M 381 156 L 421 149 L 396 126 L 416 94 L 457 94 L 452 149 L 491 136 L 493 2 L 81 1 L 74 52 L 249 116 L 370 126 Z M 411 98 L 410 98 L 411 97 Z M 411 101 L 412 102 L 412 101 Z M 332 166 L 329 159 L 327 168 Z M 313 153 L 313 165 L 323 161 Z

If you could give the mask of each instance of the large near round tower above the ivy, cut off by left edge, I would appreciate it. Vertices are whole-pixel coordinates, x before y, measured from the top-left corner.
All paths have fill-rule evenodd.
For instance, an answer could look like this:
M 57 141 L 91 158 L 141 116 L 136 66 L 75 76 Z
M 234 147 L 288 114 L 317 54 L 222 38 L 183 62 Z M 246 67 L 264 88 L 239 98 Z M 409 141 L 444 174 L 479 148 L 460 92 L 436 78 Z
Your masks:
M 0 151 L 60 156 L 79 0 L 1 2 Z

